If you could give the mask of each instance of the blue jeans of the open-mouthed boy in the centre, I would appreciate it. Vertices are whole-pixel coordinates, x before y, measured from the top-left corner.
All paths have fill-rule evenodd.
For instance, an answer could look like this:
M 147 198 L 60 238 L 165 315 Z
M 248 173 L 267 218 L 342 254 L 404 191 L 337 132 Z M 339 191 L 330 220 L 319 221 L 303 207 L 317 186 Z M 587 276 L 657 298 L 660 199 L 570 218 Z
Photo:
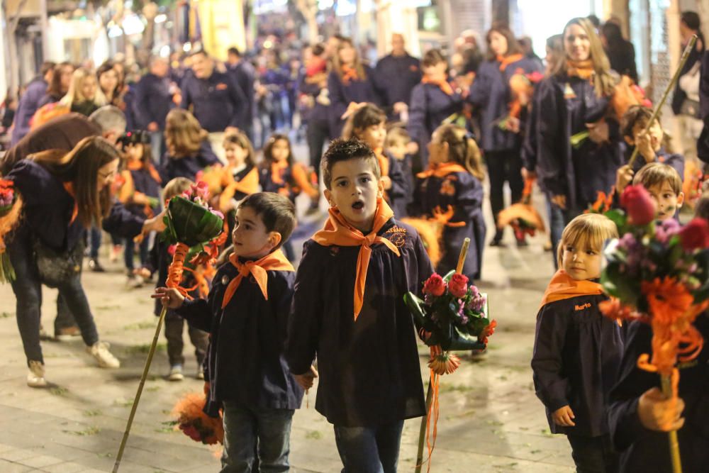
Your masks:
M 377 427 L 335 425 L 342 473 L 396 473 L 403 421 Z

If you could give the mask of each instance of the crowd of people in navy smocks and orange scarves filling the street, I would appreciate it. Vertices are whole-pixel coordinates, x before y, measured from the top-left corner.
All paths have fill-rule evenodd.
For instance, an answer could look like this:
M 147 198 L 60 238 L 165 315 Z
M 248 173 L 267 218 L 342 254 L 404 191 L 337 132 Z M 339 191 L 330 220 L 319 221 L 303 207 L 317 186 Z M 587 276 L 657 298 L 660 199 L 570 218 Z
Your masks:
M 249 58 L 230 48 L 221 63 L 196 48 L 152 57 L 142 77 L 118 61 L 95 70 L 45 63 L 16 104 L 0 166 L 23 200 L 6 252 L 27 384 L 47 385 L 43 284 L 59 289 L 55 337 L 81 336 L 99 366 L 120 366 L 81 284 L 84 252 L 91 271 L 104 271 L 106 233 L 111 257 L 123 252 L 128 283 L 156 284 L 156 315 L 169 308 L 173 381 L 184 379 L 189 324 L 196 376 L 209 382 L 206 410 L 223 413 L 223 472 L 252 471 L 255 462 L 287 471 L 291 418 L 316 378 L 316 408 L 335 426 L 344 471 L 395 472 L 403 420 L 425 412 L 403 294 L 455 269 L 466 238 L 462 274 L 479 281 L 486 245 L 510 243 L 498 217 L 536 181 L 559 269 L 532 357 L 549 426 L 568 435 L 578 471 L 669 461 L 655 444 L 668 430 L 663 419 L 679 418 L 681 408 L 621 363 L 647 334 L 601 316 L 601 249 L 618 230 L 584 211 L 599 193 L 617 206 L 630 184 L 649 191 L 659 221 L 677 219 L 685 199 L 696 199 L 685 194 L 685 157 L 671 151 L 659 120 L 650 123 L 632 44 L 616 23 L 592 20 L 569 21 L 547 40 L 544 60 L 528 38 L 495 25 L 484 48 L 466 31 L 451 51 L 431 49 L 420 60 L 395 34 L 376 65 L 337 35 L 294 56 L 264 48 Z M 699 31 L 696 14 L 684 13 L 682 25 L 685 40 Z M 709 67 L 703 52 L 700 38 L 673 101 L 691 130 L 680 137 L 683 151 L 693 140 L 700 157 L 694 121 L 702 115 L 690 107 L 700 94 L 692 81 Z M 303 134 L 307 157 L 294 151 Z M 630 165 L 634 148 L 640 158 Z M 186 301 L 165 287 L 175 250 L 155 235 L 167 202 L 198 187 L 225 216 L 231 244 L 186 276 L 195 297 Z M 697 204 L 703 218 L 706 199 Z M 328 205 L 302 255 L 289 241 L 303 218 L 296 200 L 308 215 Z M 527 245 L 525 229 L 514 230 L 516 245 Z M 686 471 L 698 472 L 709 462 L 700 448 L 709 401 L 696 386 L 680 395 L 702 421 L 686 423 L 680 443 Z

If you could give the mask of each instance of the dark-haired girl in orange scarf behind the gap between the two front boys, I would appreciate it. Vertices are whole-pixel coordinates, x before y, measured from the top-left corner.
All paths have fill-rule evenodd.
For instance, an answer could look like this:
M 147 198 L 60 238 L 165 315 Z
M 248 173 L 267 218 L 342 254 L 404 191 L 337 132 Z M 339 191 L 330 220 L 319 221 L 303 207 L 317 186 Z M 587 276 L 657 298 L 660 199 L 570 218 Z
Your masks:
M 264 162 L 261 166 L 259 182 L 264 192 L 277 192 L 295 203 L 296 197 L 305 192 L 313 202 L 318 201 L 318 186 L 308 179 L 308 171 L 299 162 L 295 162 L 291 141 L 286 135 L 274 133 L 264 147 Z M 293 261 L 295 253 L 290 242 L 286 242 L 283 251 Z

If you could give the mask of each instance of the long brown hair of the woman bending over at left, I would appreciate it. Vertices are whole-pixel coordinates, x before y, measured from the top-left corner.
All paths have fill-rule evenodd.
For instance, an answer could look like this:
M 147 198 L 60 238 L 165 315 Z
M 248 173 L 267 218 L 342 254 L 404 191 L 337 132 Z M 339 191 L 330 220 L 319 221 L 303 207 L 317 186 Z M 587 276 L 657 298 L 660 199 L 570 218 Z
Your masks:
M 71 182 L 79 213 L 77 217 L 84 228 L 96 222 L 101 225 L 111 210 L 111 186 L 99 191 L 99 169 L 118 160 L 118 151 L 105 138 L 89 136 L 79 141 L 69 152 L 50 150 L 28 156 L 62 180 Z

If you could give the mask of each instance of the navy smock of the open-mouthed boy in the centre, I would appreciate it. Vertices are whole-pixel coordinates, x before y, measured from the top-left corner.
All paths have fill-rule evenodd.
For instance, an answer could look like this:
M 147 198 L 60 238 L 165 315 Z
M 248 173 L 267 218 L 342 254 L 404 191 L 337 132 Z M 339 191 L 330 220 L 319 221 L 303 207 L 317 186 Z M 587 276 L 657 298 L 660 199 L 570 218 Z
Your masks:
M 401 257 L 372 245 L 357 321 L 359 247 L 303 245 L 286 360 L 292 373 L 303 374 L 317 355 L 316 410 L 334 425 L 374 427 L 425 412 L 415 328 L 403 294 L 420 294 L 433 269 L 413 228 L 392 218 L 379 235 Z

